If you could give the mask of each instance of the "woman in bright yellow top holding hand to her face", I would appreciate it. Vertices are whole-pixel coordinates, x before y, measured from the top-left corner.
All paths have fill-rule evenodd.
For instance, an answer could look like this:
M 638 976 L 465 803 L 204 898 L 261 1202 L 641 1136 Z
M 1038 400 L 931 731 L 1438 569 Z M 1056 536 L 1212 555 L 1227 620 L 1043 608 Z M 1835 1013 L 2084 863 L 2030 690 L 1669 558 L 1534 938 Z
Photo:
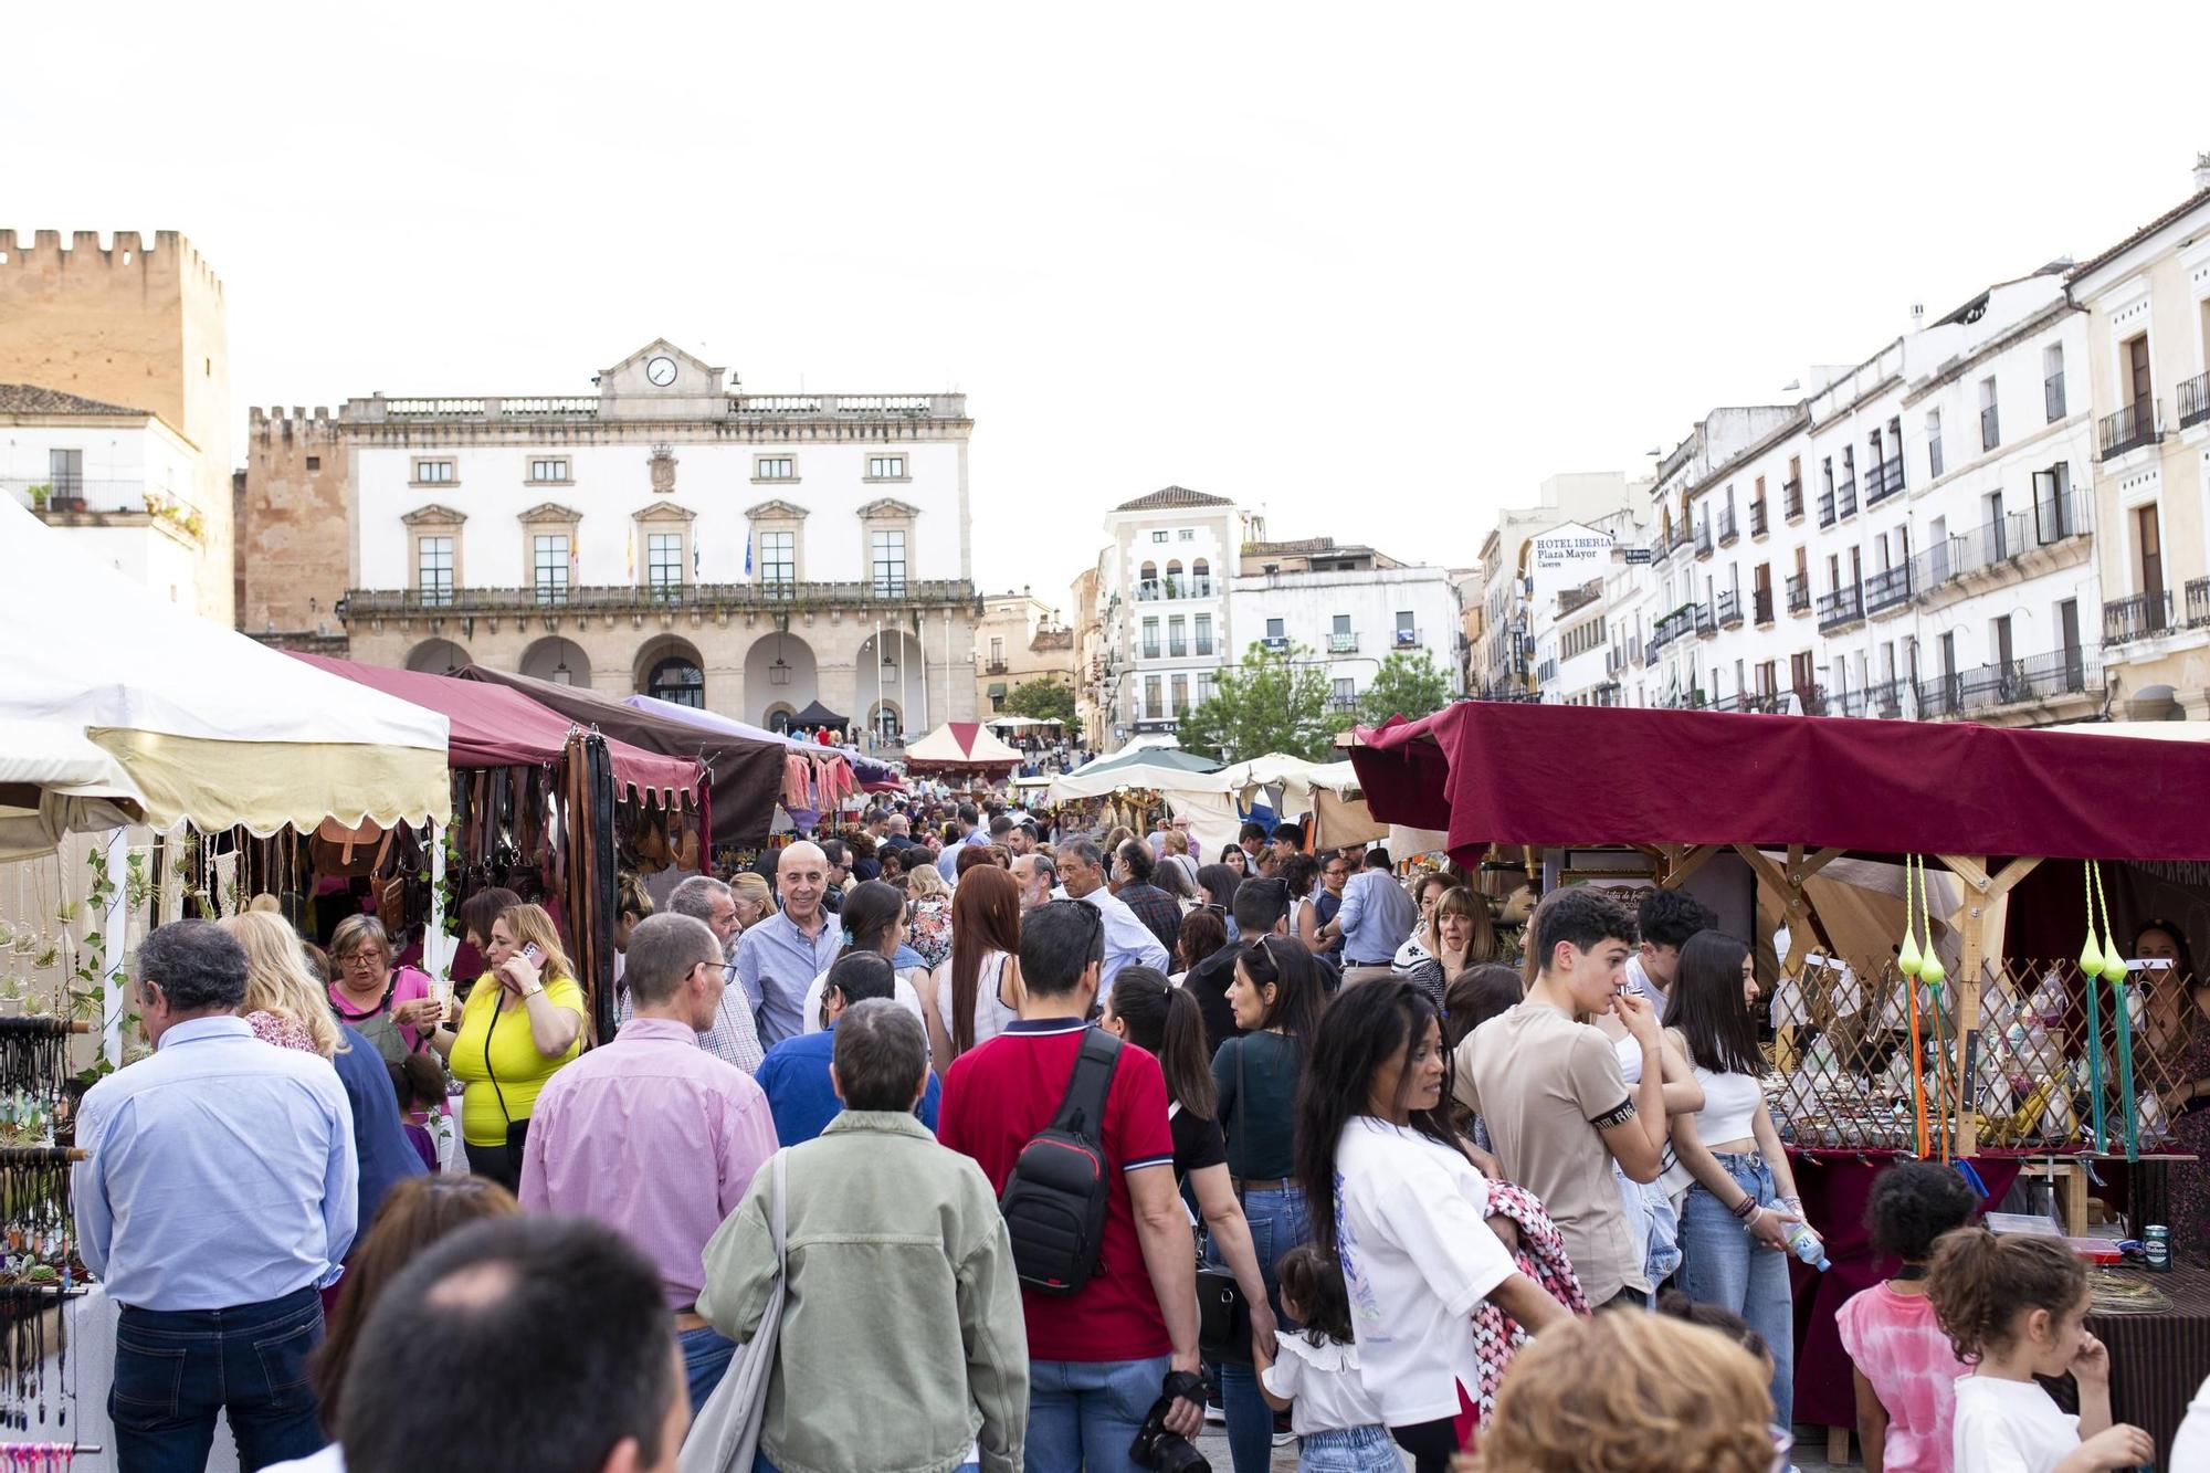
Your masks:
M 539 951 L 535 964 L 522 953 L 528 944 Z M 484 960 L 491 971 L 469 993 L 460 1033 L 440 1024 L 431 1046 L 466 1086 L 460 1139 L 469 1170 L 513 1192 L 522 1188 L 522 1139 L 537 1090 L 583 1051 L 583 989 L 541 905 L 499 911 Z

